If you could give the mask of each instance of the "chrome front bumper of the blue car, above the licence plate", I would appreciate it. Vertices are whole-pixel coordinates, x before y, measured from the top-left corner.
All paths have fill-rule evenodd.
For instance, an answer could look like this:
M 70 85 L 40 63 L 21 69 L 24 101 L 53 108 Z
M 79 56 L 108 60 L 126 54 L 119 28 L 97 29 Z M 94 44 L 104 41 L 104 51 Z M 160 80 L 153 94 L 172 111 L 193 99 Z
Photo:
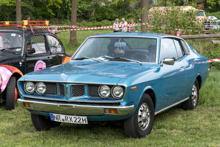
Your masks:
M 19 105 L 29 110 L 44 111 L 50 113 L 72 114 L 72 115 L 87 115 L 87 116 L 100 116 L 100 115 L 116 115 L 125 116 L 130 114 L 134 105 L 130 106 L 93 106 L 93 105 L 78 105 L 66 103 L 53 103 L 35 100 L 18 99 Z M 25 107 L 23 103 L 30 103 L 30 107 Z M 108 109 L 117 109 L 117 114 L 108 113 Z

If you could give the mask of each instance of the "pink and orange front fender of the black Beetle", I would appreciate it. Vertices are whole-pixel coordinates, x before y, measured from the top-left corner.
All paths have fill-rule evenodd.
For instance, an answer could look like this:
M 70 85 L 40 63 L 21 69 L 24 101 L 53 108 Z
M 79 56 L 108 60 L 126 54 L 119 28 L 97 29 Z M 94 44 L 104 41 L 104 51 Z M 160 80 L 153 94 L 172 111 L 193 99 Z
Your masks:
M 23 76 L 23 73 L 16 67 L 10 65 L 0 65 L 0 92 L 3 92 L 5 90 L 9 79 L 15 73 Z

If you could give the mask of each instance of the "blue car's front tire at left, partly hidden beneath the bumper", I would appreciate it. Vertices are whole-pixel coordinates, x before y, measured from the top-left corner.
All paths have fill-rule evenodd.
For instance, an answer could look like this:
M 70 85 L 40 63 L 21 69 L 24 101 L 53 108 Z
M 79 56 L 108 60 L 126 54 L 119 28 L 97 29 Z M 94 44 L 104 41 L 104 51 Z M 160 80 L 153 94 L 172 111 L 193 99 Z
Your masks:
M 51 121 L 49 117 L 31 114 L 31 120 L 38 131 L 49 130 L 50 128 L 60 126 L 60 122 Z

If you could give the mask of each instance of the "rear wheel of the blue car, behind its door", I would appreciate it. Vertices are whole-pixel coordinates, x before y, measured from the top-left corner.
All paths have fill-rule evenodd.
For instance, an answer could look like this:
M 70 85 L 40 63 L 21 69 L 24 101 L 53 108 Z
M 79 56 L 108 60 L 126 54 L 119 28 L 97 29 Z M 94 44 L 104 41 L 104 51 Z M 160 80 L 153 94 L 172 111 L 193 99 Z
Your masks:
M 189 99 L 182 104 L 184 110 L 193 110 L 198 106 L 199 102 L 199 82 L 196 80 L 192 87 Z

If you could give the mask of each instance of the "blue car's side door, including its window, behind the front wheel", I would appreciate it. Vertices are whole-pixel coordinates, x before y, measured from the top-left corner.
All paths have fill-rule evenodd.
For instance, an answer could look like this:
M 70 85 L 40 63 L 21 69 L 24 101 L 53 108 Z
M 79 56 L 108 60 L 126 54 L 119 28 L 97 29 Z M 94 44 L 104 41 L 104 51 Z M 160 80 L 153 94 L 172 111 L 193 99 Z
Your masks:
M 178 51 L 177 51 L 178 48 Z M 163 109 L 175 104 L 185 97 L 186 70 L 184 63 L 184 53 L 180 50 L 178 40 L 173 38 L 163 38 L 160 48 L 160 62 L 165 58 L 174 58 L 174 65 L 162 63 L 160 79 L 159 109 Z

